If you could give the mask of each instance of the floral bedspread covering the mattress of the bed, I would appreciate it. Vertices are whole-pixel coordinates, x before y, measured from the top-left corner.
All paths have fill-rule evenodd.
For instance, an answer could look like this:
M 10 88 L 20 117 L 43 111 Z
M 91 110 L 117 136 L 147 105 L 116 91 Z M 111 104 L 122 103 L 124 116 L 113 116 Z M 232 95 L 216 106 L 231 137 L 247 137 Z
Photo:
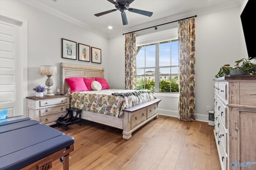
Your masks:
M 130 95 L 131 93 L 136 95 Z M 112 115 L 115 117 L 121 117 L 123 114 L 122 110 L 125 108 L 142 104 L 156 98 L 154 93 L 150 90 L 120 89 L 73 92 L 71 93 L 71 96 L 71 107 L 106 115 Z

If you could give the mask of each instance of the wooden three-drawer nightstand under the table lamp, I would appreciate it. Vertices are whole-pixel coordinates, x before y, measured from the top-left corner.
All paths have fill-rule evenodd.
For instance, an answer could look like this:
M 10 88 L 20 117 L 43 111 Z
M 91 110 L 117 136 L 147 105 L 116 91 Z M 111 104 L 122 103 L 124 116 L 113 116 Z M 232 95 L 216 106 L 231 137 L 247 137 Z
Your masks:
M 45 125 L 54 125 L 59 117 L 66 115 L 70 106 L 70 95 L 54 95 L 27 99 L 27 116 Z

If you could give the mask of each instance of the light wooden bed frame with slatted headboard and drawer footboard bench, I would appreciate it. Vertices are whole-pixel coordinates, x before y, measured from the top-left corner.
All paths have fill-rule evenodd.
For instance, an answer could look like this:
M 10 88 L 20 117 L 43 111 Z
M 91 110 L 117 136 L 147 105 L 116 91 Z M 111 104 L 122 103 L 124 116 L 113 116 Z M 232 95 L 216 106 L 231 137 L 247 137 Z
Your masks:
M 70 90 L 68 83 L 66 82 L 66 78 L 104 78 L 103 67 L 68 63 L 60 64 L 62 71 L 62 94 L 67 94 Z M 98 91 L 103 92 L 104 90 Z M 70 106 L 76 108 L 77 105 L 75 104 L 75 101 L 73 101 L 73 94 L 75 94 L 75 92 L 71 93 Z M 76 93 L 76 95 L 78 94 Z M 123 139 L 129 140 L 132 137 L 132 132 L 136 131 L 138 128 L 140 128 L 148 121 L 158 118 L 157 108 L 160 101 L 160 99 L 151 98 L 149 101 L 137 104 L 135 106 L 125 107 L 121 110 L 122 114 L 120 116 L 96 113 L 94 111 L 82 109 L 81 118 L 96 123 L 108 125 L 111 127 L 115 127 L 118 129 L 122 129 Z

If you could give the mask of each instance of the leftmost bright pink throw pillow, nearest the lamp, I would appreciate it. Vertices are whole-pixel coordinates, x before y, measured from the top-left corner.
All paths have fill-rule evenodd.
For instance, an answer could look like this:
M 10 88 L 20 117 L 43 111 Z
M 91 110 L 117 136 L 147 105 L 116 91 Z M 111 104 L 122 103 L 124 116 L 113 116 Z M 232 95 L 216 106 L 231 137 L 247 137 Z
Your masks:
M 68 86 L 70 87 L 70 93 L 88 91 L 88 88 L 84 83 L 83 77 L 70 77 L 65 78 L 65 80 L 68 83 Z

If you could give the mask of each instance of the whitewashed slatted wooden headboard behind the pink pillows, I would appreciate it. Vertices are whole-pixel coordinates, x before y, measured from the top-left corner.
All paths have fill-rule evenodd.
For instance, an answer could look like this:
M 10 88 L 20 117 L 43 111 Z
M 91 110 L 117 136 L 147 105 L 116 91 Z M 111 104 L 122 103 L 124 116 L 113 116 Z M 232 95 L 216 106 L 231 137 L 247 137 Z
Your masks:
M 86 66 L 79 64 L 60 63 L 61 65 L 61 93 L 68 92 L 68 83 L 65 78 L 70 77 L 84 77 L 84 78 L 104 78 L 104 68 L 96 66 Z

